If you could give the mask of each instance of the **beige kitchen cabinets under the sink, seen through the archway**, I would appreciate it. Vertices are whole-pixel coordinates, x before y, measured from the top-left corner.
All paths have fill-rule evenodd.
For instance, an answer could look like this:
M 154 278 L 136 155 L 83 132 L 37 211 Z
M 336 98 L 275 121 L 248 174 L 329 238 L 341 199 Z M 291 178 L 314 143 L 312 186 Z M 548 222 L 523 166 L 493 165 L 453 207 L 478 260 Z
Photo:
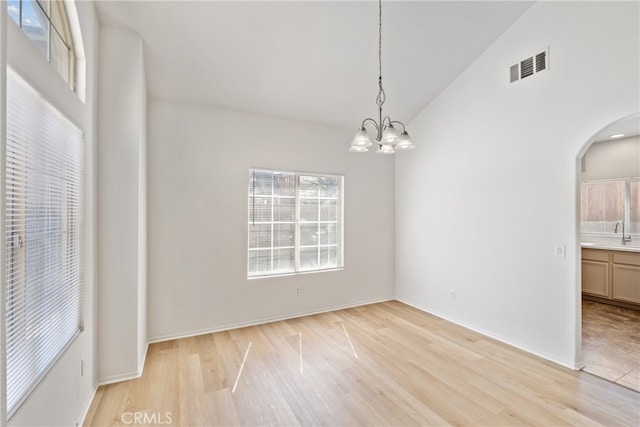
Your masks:
M 583 249 L 582 293 L 640 306 L 640 253 Z

